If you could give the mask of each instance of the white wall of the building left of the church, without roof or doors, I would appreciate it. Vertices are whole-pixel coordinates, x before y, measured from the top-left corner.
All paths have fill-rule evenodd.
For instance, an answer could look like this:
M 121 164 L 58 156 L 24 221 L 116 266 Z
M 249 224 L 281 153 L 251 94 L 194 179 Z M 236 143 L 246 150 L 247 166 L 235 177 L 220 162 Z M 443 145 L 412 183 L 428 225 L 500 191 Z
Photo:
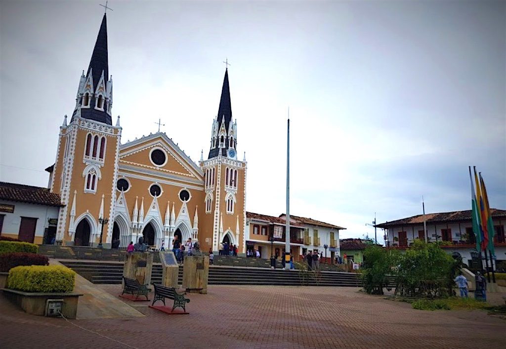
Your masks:
M 14 205 L 14 213 L 0 212 L 0 215 L 5 215 L 1 231 L 2 236 L 17 238 L 19 234 L 19 226 L 21 225 L 21 217 L 37 218 L 35 238 L 33 242 L 41 244 L 43 243 L 44 230 L 49 226 L 48 219 L 58 218 L 58 207 L 25 204 L 12 201 L 2 201 L 1 203 Z

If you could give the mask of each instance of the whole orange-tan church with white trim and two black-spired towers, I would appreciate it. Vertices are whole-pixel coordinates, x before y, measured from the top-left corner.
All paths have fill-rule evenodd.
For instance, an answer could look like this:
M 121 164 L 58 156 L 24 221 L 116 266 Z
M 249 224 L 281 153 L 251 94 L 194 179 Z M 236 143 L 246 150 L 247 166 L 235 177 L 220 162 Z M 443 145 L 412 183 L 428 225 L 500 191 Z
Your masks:
M 60 127 L 49 188 L 61 204 L 56 242 L 125 247 L 143 236 L 172 247 L 198 240 L 202 251 L 224 241 L 244 253 L 246 161 L 237 159 L 228 70 L 212 123 L 207 159 L 194 163 L 165 133 L 121 143 L 113 125 L 107 18 L 104 15 L 88 70 L 80 76 L 74 112 Z

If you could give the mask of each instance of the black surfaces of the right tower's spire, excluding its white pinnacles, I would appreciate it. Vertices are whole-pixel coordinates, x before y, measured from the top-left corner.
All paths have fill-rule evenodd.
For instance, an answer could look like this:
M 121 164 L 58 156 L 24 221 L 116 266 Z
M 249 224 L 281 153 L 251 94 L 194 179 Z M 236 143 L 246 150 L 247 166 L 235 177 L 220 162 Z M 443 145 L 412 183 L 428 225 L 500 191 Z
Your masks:
M 225 69 L 225 77 L 223 78 L 223 87 L 222 94 L 220 98 L 220 107 L 218 108 L 218 115 L 216 116 L 216 120 L 213 124 L 213 132 L 216 131 L 216 134 L 213 134 L 213 138 L 218 136 L 218 133 L 221 130 L 222 122 L 225 119 L 225 130 L 229 132 L 229 129 L 232 124 L 232 106 L 230 103 L 230 86 L 228 84 L 228 69 Z M 217 157 L 218 155 L 226 156 L 227 149 L 229 147 L 229 139 L 225 135 L 224 137 L 224 147 L 220 148 L 220 139 L 216 138 L 214 141 L 211 140 L 211 148 L 209 149 L 208 159 Z

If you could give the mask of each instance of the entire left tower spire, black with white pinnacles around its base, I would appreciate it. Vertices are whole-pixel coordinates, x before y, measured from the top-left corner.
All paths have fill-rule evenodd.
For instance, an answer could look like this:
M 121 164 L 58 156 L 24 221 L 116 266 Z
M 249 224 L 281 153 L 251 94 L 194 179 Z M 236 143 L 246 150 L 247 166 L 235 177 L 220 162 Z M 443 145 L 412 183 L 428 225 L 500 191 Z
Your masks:
M 112 125 L 112 78 L 109 77 L 107 16 L 105 14 L 95 41 L 90 65 L 86 75 L 81 76 L 76 101 L 72 118 L 80 116 Z

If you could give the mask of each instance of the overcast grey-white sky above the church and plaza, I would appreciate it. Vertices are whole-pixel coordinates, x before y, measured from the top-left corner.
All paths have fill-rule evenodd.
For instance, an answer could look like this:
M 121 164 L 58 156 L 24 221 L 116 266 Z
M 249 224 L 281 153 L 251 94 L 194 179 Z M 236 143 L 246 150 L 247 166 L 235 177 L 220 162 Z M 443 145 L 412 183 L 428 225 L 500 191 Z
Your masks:
M 0 2 L 0 179 L 46 186 L 103 8 Z M 110 1 L 113 122 L 209 150 L 227 57 L 247 211 L 365 223 L 471 208 L 468 166 L 506 209 L 506 2 Z M 382 235 L 382 234 L 378 234 Z M 383 240 L 383 239 L 381 239 Z

